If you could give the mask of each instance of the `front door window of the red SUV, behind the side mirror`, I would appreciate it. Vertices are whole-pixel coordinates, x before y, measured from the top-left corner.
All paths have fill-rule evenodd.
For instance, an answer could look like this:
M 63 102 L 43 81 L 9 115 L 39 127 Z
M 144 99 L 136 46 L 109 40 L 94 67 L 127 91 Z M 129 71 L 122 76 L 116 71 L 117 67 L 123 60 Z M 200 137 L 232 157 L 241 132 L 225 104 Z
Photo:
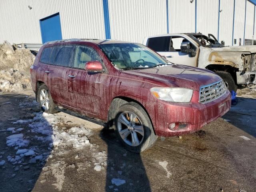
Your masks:
M 76 54 L 72 67 L 84 69 L 88 61 L 100 61 L 103 64 L 98 52 L 90 46 L 76 46 Z

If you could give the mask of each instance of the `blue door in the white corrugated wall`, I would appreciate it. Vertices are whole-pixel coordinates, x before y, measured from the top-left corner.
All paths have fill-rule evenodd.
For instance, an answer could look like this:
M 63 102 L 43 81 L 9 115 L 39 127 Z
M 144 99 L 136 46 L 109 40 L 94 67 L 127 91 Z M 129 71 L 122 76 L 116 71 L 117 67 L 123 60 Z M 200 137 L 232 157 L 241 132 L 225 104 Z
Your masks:
M 43 43 L 62 39 L 59 13 L 41 19 L 40 27 Z

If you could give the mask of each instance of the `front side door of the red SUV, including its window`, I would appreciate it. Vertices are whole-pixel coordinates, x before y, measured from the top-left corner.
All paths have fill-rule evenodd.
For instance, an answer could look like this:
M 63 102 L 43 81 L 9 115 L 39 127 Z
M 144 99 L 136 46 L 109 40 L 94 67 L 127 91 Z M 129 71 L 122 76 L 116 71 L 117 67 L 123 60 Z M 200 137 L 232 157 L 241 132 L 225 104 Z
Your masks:
M 102 119 L 107 76 L 84 69 L 88 61 L 98 60 L 106 71 L 102 58 L 94 48 L 87 45 L 77 45 L 74 57 L 68 78 L 68 90 L 72 95 L 71 105 L 88 116 Z

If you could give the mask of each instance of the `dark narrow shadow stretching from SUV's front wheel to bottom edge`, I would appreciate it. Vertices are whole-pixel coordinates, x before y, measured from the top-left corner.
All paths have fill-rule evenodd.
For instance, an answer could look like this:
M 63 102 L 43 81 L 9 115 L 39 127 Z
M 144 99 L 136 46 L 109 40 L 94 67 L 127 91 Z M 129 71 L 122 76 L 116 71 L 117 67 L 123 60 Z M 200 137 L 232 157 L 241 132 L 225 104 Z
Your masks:
M 110 122 L 113 122 L 113 120 Z M 144 128 L 150 130 L 148 127 Z M 126 150 L 117 139 L 114 130 L 110 130 L 107 126 L 100 132 L 100 137 L 108 146 L 105 191 L 150 192 L 150 182 L 142 162 L 141 154 Z M 119 179 L 121 183 L 125 181 L 125 183 L 120 183 L 120 186 L 116 186 L 114 184 L 116 179 Z

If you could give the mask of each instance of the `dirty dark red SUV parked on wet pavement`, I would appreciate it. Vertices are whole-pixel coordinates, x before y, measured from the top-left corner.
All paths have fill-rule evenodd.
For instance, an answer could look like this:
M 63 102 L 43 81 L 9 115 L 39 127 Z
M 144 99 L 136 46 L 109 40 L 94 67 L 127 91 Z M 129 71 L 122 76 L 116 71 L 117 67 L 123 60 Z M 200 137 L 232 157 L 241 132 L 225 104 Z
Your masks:
M 48 42 L 30 72 L 44 112 L 64 108 L 108 122 L 133 152 L 150 148 L 157 136 L 195 132 L 230 109 L 220 76 L 170 63 L 138 43 Z

